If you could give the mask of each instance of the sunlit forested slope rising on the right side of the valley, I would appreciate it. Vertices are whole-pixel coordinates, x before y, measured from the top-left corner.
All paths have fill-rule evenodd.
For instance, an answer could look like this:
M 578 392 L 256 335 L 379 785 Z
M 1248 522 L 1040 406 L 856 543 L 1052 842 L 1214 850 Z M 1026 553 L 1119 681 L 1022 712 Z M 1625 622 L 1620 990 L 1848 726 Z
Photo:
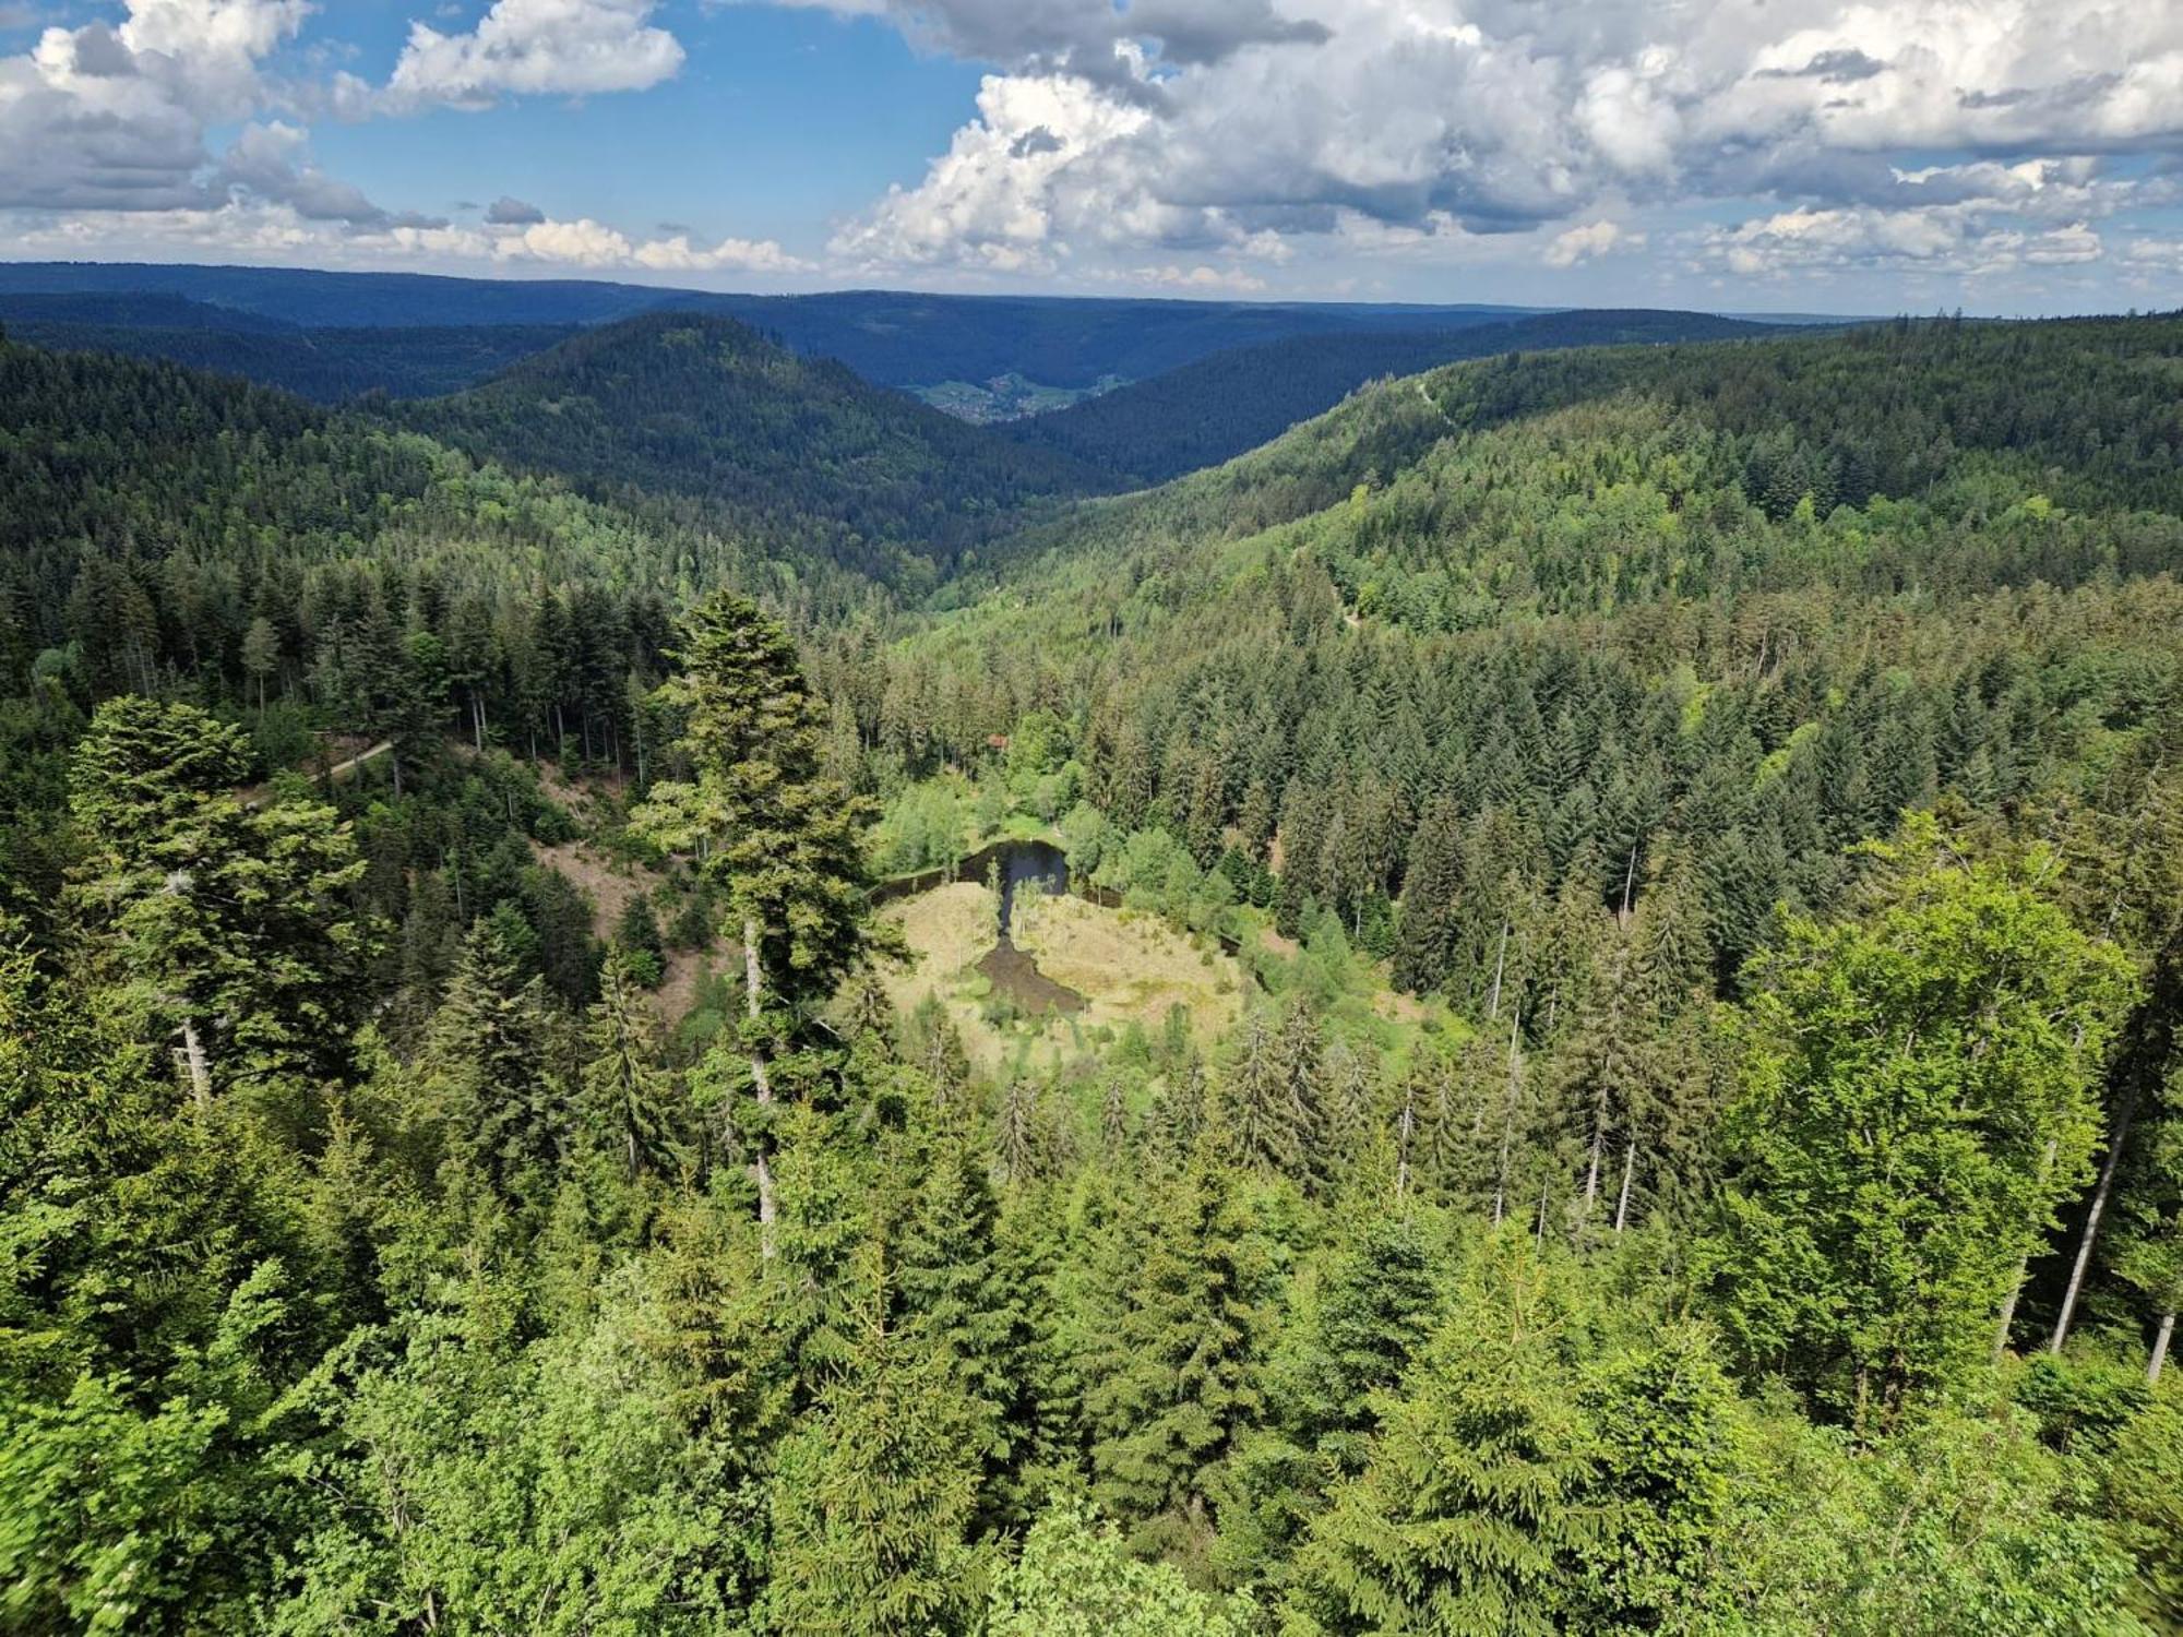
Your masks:
M 989 554 L 858 716 L 912 773 L 1072 722 L 1111 823 L 1410 987 L 1668 880 L 1727 976 L 1906 805 L 2067 803 L 2183 720 L 2179 360 L 2179 319 L 1914 323 L 1388 382 Z M 976 707 L 910 742 L 921 698 Z

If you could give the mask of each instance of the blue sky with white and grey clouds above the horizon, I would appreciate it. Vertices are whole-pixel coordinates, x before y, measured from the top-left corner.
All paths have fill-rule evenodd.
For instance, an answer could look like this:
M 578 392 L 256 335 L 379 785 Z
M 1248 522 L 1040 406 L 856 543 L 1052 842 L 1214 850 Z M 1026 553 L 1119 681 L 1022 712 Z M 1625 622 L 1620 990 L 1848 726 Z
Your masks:
M 2183 308 L 2183 0 L 0 0 L 0 258 Z

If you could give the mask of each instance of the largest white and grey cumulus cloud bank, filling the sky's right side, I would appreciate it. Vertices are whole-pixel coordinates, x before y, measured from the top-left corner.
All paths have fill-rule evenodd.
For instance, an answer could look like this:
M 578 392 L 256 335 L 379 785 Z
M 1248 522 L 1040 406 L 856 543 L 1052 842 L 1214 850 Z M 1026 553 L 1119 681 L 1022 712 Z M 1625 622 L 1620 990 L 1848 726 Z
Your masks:
M 1952 240 L 1967 264 L 1984 264 L 1963 247 L 2000 249 L 2004 231 L 2019 234 L 2006 253 L 2030 262 L 2083 240 L 2065 223 L 1991 223 L 2037 190 L 1967 166 L 2183 151 L 2183 7 L 2172 4 L 836 9 L 891 15 L 998 65 L 976 118 L 923 179 L 836 236 L 838 253 L 869 266 L 1050 271 L 1083 253 L 1242 253 L 1266 236 L 1332 244 L 1358 220 L 1428 242 L 1548 234 L 1546 262 L 1570 266 L 1615 247 L 1602 207 L 1642 216 L 1694 201 L 1759 201 L 1746 249 L 1777 264 L 1792 260 L 1788 244 L 1829 234 L 1845 255 L 1860 240 L 1875 255 Z M 1205 28 L 1164 37 L 1185 11 Z M 1912 153 L 1954 164 L 1919 179 L 1897 168 Z M 1949 188 L 1956 199 L 1941 196 Z M 2087 203 L 2078 218 L 2107 210 Z M 1805 216 L 1834 227 L 1777 220 Z M 1901 220 L 1890 227 L 1890 216 Z

